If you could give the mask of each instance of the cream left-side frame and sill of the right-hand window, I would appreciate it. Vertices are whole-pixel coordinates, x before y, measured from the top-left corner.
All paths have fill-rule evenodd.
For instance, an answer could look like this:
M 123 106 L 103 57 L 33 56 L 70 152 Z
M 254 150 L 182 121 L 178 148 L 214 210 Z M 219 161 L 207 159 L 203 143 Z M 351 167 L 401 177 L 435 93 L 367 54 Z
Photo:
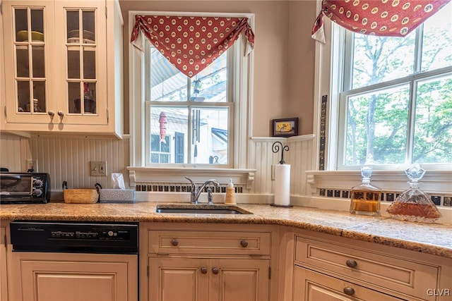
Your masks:
M 322 9 L 322 1 L 317 0 L 317 13 Z M 315 169 L 306 171 L 307 174 L 307 195 L 318 195 L 318 188 L 351 188 L 361 180 L 359 168 L 338 169 L 338 116 L 339 116 L 339 93 L 343 87 L 343 77 L 333 78 L 333 74 L 338 74 L 343 70 L 342 54 L 345 47 L 342 43 L 332 43 L 333 39 L 343 38 L 345 32 L 333 26 L 329 18 L 323 18 L 323 29 L 325 31 L 326 44 L 315 42 L 314 61 L 314 139 L 313 160 L 316 163 Z M 335 51 L 336 56 L 333 56 Z M 326 149 L 323 152 L 325 160 L 324 170 L 319 169 L 321 159 L 321 112 L 322 96 L 327 96 L 326 106 Z M 410 164 L 411 165 L 411 164 Z M 439 164 L 439 166 L 424 166 L 427 173 L 422 179 L 422 189 L 426 192 L 440 192 L 451 194 L 450 185 L 452 178 L 452 164 Z M 382 190 L 404 190 L 407 184 L 405 169 L 408 166 L 392 166 L 386 170 L 374 170 L 372 178 L 376 180 L 376 185 Z M 446 207 L 444 207 L 446 209 Z

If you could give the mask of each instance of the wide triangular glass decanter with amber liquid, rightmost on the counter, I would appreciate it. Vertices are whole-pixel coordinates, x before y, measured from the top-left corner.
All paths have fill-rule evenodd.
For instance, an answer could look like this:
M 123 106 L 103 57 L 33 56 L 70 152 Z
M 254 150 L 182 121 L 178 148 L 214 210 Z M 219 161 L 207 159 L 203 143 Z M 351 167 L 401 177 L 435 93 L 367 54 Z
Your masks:
M 422 223 L 434 223 L 441 217 L 432 199 L 419 189 L 419 181 L 424 176 L 424 169 L 418 164 L 405 171 L 410 179 L 410 189 L 399 195 L 386 211 L 393 219 L 401 221 L 418 221 Z

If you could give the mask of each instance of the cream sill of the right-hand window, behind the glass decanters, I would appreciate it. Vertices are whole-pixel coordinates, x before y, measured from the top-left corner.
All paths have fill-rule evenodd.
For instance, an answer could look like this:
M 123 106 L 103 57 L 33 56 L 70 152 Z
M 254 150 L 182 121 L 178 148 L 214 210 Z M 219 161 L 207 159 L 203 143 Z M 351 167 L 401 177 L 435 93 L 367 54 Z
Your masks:
M 308 190 L 316 195 L 320 188 L 344 189 L 361 183 L 360 171 L 306 171 Z M 452 171 L 428 170 L 420 180 L 420 189 L 424 192 L 452 195 Z M 371 184 L 383 191 L 403 192 L 409 188 L 405 171 L 372 172 Z

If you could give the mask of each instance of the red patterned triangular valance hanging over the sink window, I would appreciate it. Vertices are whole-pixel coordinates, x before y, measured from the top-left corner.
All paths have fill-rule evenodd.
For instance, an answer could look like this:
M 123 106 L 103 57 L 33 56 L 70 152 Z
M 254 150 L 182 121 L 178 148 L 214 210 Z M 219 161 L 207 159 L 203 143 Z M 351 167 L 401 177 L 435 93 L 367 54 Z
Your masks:
M 189 78 L 201 72 L 244 33 L 246 54 L 254 47 L 247 18 L 135 16 L 131 43 L 142 49 L 140 32 Z

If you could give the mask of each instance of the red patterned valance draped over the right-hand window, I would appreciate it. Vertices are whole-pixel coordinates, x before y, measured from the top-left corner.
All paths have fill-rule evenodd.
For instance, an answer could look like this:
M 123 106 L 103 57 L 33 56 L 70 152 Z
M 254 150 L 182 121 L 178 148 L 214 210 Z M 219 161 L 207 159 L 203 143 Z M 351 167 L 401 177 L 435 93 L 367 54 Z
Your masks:
M 323 0 L 312 37 L 325 42 L 323 16 L 352 32 L 405 37 L 451 0 Z

